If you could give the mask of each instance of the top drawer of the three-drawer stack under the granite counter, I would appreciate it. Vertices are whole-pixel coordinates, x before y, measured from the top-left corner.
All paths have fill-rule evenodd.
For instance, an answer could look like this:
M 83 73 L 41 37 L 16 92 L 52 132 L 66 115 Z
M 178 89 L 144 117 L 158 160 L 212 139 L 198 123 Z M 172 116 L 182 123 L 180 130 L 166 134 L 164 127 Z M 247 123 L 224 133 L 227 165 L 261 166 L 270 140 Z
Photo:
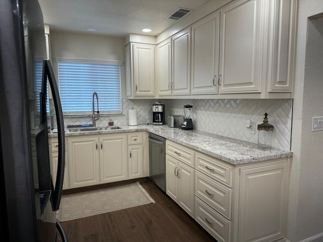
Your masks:
M 224 162 L 195 153 L 195 168 L 232 187 L 233 168 L 225 165 Z

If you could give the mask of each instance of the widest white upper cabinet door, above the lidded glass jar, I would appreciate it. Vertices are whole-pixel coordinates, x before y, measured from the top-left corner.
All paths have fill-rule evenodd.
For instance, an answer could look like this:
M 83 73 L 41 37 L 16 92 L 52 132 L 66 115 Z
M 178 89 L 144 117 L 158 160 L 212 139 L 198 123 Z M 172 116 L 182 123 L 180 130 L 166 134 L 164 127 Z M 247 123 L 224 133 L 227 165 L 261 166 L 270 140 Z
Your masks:
M 240 0 L 221 10 L 219 93 L 260 92 L 261 2 Z

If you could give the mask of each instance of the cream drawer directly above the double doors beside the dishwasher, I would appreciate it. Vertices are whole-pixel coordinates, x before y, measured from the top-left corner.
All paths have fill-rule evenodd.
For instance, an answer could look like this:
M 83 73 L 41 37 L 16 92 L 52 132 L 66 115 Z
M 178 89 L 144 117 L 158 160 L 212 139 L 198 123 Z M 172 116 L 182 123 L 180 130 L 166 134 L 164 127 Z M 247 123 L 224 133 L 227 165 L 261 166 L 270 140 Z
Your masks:
M 167 141 L 166 154 L 169 154 L 188 165 L 194 166 L 194 151 L 183 145 Z

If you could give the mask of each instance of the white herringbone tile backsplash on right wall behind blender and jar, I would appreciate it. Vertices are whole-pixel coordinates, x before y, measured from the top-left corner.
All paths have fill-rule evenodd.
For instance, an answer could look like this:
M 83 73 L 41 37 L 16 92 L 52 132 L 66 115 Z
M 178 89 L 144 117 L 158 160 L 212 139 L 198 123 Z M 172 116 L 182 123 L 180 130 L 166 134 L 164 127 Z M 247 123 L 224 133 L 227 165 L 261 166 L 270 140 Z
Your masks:
M 248 119 L 257 125 L 267 112 L 269 123 L 274 125 L 273 146 L 290 150 L 293 99 L 176 99 L 165 101 L 166 116 L 184 114 L 185 104 L 193 105 L 195 130 L 223 135 L 252 143 L 258 142 L 258 131 L 250 134 Z

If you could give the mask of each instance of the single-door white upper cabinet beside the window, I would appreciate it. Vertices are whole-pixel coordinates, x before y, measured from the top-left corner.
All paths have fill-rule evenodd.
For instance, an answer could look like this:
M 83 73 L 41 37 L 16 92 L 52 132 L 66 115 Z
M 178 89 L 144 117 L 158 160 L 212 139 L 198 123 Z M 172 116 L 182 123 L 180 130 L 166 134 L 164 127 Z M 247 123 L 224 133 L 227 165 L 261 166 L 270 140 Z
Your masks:
M 126 46 L 127 96 L 155 95 L 155 45 L 130 43 Z

